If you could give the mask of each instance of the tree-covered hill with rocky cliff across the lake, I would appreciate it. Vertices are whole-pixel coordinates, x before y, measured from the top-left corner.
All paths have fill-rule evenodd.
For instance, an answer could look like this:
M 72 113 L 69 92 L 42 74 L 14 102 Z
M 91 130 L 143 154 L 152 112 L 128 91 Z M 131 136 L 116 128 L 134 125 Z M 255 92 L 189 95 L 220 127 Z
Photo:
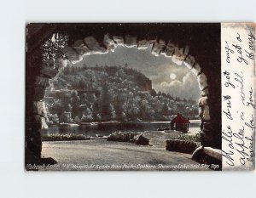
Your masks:
M 195 118 L 191 99 L 156 93 L 141 72 L 120 66 L 67 66 L 45 95 L 49 122 L 166 121 Z

